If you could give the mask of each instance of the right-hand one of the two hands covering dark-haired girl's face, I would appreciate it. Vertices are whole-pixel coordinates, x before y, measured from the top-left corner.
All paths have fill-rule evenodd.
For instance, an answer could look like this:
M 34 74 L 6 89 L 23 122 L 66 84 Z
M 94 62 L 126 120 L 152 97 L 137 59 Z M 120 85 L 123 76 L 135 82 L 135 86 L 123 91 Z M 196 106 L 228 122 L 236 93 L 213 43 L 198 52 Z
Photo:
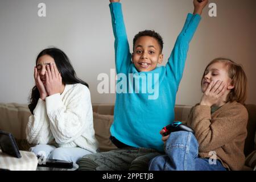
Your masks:
M 62 78 L 55 64 L 47 65 L 46 72 L 46 91 L 49 96 L 60 93 Z

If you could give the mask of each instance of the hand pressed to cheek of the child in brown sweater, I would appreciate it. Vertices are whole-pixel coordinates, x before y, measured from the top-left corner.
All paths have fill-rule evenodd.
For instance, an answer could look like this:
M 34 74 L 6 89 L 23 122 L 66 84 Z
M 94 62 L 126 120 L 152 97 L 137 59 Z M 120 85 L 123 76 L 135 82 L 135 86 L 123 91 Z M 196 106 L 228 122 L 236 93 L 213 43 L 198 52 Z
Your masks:
M 201 98 L 200 105 L 211 107 L 212 105 L 217 104 L 225 91 L 226 85 L 223 81 L 218 80 L 215 84 L 211 81 Z

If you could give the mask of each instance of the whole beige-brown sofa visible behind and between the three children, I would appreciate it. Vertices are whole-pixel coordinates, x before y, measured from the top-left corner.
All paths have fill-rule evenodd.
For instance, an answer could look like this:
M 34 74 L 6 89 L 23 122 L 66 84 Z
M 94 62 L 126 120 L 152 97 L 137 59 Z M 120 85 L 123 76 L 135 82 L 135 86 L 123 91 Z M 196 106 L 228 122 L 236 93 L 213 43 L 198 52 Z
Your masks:
M 101 152 L 114 150 L 116 147 L 110 141 L 109 128 L 113 122 L 113 104 L 93 104 L 93 123 L 96 138 Z M 245 105 L 249 113 L 247 138 L 244 153 L 246 156 L 243 170 L 256 170 L 256 105 Z M 185 123 L 192 106 L 176 105 L 175 121 Z M 12 133 L 20 150 L 27 151 L 31 147 L 26 141 L 26 125 L 30 111 L 27 105 L 16 103 L 0 103 L 0 130 Z

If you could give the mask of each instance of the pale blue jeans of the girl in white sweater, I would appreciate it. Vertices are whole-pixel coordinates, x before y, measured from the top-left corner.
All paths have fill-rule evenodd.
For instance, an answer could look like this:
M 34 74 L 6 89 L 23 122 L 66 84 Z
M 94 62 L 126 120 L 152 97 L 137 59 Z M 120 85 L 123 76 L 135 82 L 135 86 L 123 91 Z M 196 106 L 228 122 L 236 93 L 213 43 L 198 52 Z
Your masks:
M 57 159 L 66 160 L 73 162 L 75 164 L 77 160 L 82 158 L 82 156 L 87 154 L 92 154 L 80 147 L 59 147 L 51 146 L 48 144 L 38 144 L 35 147 L 31 147 L 30 150 L 35 153 L 35 155 L 43 156 L 44 159 Z

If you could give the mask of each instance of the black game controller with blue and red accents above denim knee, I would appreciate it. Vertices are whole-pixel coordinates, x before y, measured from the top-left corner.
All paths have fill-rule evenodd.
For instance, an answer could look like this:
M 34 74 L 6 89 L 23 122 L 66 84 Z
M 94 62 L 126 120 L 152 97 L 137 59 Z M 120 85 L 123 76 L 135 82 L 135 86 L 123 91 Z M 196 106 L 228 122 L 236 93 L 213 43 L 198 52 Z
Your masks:
M 163 130 L 164 130 L 164 133 L 162 134 L 163 136 L 167 136 L 171 132 L 175 132 L 175 131 L 188 131 L 195 134 L 195 131 L 191 129 L 191 127 L 188 127 L 187 125 L 184 125 L 179 121 L 174 121 L 170 125 L 163 127 Z

